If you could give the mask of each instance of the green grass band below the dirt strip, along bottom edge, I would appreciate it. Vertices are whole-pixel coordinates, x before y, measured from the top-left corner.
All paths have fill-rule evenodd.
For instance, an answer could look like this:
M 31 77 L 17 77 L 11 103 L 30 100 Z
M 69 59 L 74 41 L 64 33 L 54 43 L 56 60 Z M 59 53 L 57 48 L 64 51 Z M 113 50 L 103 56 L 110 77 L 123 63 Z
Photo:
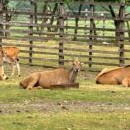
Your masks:
M 130 112 L 1 115 L 1 130 L 129 130 Z

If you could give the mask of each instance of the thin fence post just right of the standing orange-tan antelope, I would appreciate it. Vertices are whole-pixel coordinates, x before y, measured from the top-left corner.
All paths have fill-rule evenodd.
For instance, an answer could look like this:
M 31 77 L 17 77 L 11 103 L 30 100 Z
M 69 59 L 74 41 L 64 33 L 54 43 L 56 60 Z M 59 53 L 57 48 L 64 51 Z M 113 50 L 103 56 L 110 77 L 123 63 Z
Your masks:
M 30 4 L 31 4 L 31 8 L 33 7 L 33 2 L 30 1 Z M 32 50 L 33 50 L 33 39 L 32 39 L 32 36 L 33 36 L 33 14 L 30 14 L 30 26 L 29 26 L 29 64 L 32 63 L 32 57 L 33 57 L 33 53 L 32 53 Z

